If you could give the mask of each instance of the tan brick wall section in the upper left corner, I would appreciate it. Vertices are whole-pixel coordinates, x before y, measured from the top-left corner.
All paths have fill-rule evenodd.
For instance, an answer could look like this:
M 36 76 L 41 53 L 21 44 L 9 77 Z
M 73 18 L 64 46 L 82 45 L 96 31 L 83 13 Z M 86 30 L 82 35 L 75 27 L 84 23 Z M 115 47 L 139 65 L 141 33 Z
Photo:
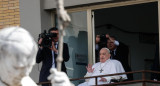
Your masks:
M 0 0 L 0 29 L 20 26 L 19 0 Z

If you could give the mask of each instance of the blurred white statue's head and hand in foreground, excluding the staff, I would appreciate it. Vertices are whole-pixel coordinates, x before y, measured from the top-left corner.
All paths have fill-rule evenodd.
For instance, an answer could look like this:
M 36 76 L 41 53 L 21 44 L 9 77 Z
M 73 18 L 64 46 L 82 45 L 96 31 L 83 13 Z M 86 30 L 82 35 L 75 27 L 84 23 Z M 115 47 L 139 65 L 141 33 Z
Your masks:
M 0 86 L 37 86 L 29 77 L 35 64 L 37 44 L 21 27 L 0 30 Z M 71 86 L 67 75 L 51 69 L 54 86 Z

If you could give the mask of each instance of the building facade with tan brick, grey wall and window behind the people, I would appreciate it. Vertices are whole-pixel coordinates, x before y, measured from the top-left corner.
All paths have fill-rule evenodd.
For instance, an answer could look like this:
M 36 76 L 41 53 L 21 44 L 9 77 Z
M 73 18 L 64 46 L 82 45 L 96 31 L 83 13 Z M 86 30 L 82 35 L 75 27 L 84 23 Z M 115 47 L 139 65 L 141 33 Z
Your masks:
M 159 3 L 160 0 L 64 0 L 72 20 L 64 37 L 71 56 L 66 63 L 68 76 L 85 75 L 85 66 L 95 63 L 95 35 L 106 33 L 129 46 L 133 71 L 150 69 L 155 45 L 159 44 Z M 54 0 L 0 0 L 0 29 L 18 25 L 37 40 L 43 30 L 57 26 L 55 9 Z M 36 64 L 30 75 L 36 82 L 40 67 Z M 83 81 L 73 83 L 80 82 Z

